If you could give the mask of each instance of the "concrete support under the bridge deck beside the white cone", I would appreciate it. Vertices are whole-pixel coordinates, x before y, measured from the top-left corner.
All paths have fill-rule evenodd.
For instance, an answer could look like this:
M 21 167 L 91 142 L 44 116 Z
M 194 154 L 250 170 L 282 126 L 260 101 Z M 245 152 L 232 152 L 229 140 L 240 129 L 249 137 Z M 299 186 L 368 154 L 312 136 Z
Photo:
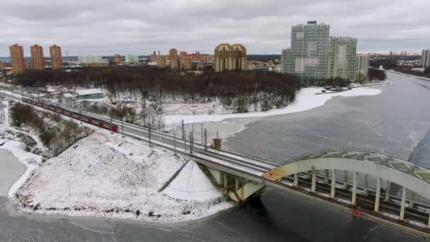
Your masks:
M 246 202 L 250 197 L 258 195 L 265 188 L 262 183 L 217 171 L 214 168 L 207 167 L 207 169 L 214 178 L 214 182 L 219 185 L 219 188 L 223 189 L 224 194 L 239 203 Z

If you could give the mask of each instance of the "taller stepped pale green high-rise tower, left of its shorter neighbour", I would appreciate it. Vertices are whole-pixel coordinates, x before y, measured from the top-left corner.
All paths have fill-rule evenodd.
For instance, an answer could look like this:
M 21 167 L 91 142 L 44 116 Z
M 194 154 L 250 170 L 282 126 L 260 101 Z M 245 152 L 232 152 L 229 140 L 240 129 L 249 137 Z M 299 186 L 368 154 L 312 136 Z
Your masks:
M 308 21 L 291 27 L 291 47 L 283 50 L 284 73 L 304 79 L 327 79 L 330 52 L 330 25 Z

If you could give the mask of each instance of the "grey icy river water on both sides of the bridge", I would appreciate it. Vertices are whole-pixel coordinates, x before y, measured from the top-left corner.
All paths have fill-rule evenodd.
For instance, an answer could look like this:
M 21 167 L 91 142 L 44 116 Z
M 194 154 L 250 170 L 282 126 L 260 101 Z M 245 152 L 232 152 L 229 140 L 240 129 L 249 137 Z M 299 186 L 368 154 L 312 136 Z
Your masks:
M 430 82 L 388 74 L 378 96 L 334 98 L 320 108 L 225 120 L 228 149 L 282 163 L 329 148 L 371 148 L 430 167 Z M 276 190 L 208 219 L 153 225 L 114 219 L 18 214 L 6 190 L 25 167 L 0 149 L 0 241 L 422 241 Z

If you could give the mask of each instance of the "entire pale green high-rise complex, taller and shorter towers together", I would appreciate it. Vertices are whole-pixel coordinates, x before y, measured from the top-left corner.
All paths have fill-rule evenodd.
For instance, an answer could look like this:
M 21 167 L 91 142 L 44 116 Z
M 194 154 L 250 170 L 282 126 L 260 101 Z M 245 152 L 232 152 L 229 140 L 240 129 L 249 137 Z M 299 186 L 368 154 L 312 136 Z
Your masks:
M 330 37 L 330 25 L 308 21 L 291 27 L 291 47 L 282 50 L 282 71 L 305 84 L 341 77 L 355 80 L 357 39 Z

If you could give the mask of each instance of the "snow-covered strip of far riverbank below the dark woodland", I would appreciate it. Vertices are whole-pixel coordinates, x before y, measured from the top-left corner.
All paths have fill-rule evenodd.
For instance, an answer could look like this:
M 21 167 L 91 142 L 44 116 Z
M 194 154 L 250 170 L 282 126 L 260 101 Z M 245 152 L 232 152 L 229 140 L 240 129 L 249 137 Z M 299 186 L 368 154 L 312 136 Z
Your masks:
M 178 123 L 184 120 L 185 123 L 193 122 L 219 122 L 226 120 L 228 118 L 237 117 L 266 117 L 272 115 L 282 115 L 286 113 L 298 113 L 306 110 L 311 110 L 313 108 L 318 108 L 324 105 L 327 100 L 331 98 L 342 96 L 342 97 L 352 97 L 352 96 L 373 96 L 381 93 L 380 89 L 376 88 L 353 88 L 348 91 L 343 91 L 339 93 L 326 93 L 321 95 L 315 95 L 315 93 L 321 93 L 322 88 L 302 88 L 301 91 L 296 96 L 296 101 L 289 104 L 285 108 L 272 109 L 266 112 L 255 112 L 255 113 L 233 113 L 233 114 L 214 114 L 214 115 L 165 115 L 165 123 Z M 189 107 L 192 109 L 192 107 Z M 182 112 L 185 112 L 182 110 Z

